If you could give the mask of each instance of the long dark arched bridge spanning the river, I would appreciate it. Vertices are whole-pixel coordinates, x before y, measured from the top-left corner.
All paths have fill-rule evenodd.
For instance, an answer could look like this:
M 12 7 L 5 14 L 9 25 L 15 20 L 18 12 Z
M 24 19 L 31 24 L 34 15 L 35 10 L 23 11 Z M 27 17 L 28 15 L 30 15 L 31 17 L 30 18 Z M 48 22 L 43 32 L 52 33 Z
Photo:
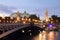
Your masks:
M 5 24 L 5 23 L 3 23 L 3 24 L 0 24 L 0 38 L 3 38 L 17 30 L 20 30 L 22 28 L 26 28 L 29 26 L 30 26 L 30 23 L 25 23 L 25 24 L 22 24 L 22 23 Z M 40 25 L 37 25 L 37 24 L 34 24 L 34 26 L 41 28 Z

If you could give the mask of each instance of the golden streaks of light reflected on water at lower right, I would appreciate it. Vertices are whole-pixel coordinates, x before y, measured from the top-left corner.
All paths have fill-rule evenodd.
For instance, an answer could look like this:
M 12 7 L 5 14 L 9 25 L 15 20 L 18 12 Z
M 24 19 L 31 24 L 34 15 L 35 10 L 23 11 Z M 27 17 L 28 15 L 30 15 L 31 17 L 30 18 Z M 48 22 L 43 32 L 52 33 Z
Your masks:
M 34 37 L 33 40 L 60 40 L 59 32 L 56 31 L 43 31 L 38 36 Z

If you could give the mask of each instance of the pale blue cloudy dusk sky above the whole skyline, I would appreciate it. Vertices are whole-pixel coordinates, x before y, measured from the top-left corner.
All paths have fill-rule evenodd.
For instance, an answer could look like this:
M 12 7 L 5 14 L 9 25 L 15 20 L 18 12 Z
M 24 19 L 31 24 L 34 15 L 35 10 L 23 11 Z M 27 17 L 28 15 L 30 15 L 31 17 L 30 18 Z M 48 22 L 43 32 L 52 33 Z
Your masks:
M 0 0 L 0 14 L 9 15 L 16 10 L 37 14 L 44 19 L 46 9 L 49 17 L 53 14 L 60 16 L 60 0 Z

